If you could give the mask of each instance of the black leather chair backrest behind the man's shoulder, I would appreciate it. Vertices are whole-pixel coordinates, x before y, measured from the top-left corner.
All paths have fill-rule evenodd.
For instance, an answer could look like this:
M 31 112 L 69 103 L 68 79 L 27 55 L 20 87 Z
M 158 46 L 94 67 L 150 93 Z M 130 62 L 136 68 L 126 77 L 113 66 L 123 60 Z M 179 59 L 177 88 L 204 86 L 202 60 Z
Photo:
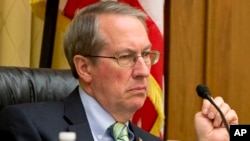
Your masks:
M 7 105 L 61 100 L 78 84 L 70 70 L 0 66 L 0 111 Z

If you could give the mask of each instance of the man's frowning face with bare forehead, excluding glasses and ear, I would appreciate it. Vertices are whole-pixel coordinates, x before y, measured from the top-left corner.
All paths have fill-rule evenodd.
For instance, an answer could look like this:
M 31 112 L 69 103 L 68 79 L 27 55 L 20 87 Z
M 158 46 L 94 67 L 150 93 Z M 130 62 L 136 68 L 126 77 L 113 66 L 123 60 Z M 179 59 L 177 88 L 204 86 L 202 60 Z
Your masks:
M 151 43 L 143 24 L 131 16 L 102 15 L 100 33 L 107 46 L 100 56 L 150 51 Z M 147 97 L 150 66 L 139 57 L 132 67 L 121 67 L 116 59 L 98 58 L 91 69 L 91 94 L 113 116 L 124 116 L 141 108 Z M 122 113 L 122 114 L 121 114 Z M 124 117 L 125 118 L 125 117 Z

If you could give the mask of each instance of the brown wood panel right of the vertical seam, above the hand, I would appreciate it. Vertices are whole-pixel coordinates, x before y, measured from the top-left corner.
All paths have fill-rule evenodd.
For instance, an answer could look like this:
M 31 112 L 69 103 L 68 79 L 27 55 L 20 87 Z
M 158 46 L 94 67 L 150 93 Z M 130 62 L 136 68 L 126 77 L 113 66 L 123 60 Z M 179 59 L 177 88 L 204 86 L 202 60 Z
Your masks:
M 250 1 L 209 3 L 207 83 L 250 123 Z

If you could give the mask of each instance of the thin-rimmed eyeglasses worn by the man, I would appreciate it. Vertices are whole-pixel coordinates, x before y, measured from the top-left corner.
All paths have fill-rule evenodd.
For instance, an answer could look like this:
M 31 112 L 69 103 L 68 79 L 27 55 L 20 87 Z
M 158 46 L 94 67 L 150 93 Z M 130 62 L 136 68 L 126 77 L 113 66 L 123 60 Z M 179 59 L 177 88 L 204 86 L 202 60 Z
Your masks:
M 96 56 L 96 55 L 83 55 L 83 56 L 116 59 L 119 66 L 128 68 L 128 67 L 133 67 L 139 57 L 143 58 L 146 65 L 148 66 L 154 65 L 158 62 L 160 58 L 160 52 L 159 51 L 146 51 L 146 52 L 143 52 L 141 56 L 138 56 L 136 53 L 121 53 L 114 57 Z

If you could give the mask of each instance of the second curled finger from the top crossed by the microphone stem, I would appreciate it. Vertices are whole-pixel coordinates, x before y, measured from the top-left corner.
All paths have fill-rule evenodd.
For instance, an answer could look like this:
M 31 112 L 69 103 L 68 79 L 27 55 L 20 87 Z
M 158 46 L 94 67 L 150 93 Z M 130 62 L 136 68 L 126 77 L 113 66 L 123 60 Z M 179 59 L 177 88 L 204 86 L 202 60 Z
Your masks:
M 224 115 L 224 117 L 226 119 L 226 115 L 231 110 L 230 106 L 227 103 L 222 103 L 219 108 L 220 108 L 222 114 Z M 215 127 L 219 127 L 219 126 L 222 125 L 222 117 L 221 117 L 221 115 L 220 115 L 220 113 L 218 111 L 217 111 L 217 113 L 216 113 L 216 115 L 214 117 L 213 125 Z

